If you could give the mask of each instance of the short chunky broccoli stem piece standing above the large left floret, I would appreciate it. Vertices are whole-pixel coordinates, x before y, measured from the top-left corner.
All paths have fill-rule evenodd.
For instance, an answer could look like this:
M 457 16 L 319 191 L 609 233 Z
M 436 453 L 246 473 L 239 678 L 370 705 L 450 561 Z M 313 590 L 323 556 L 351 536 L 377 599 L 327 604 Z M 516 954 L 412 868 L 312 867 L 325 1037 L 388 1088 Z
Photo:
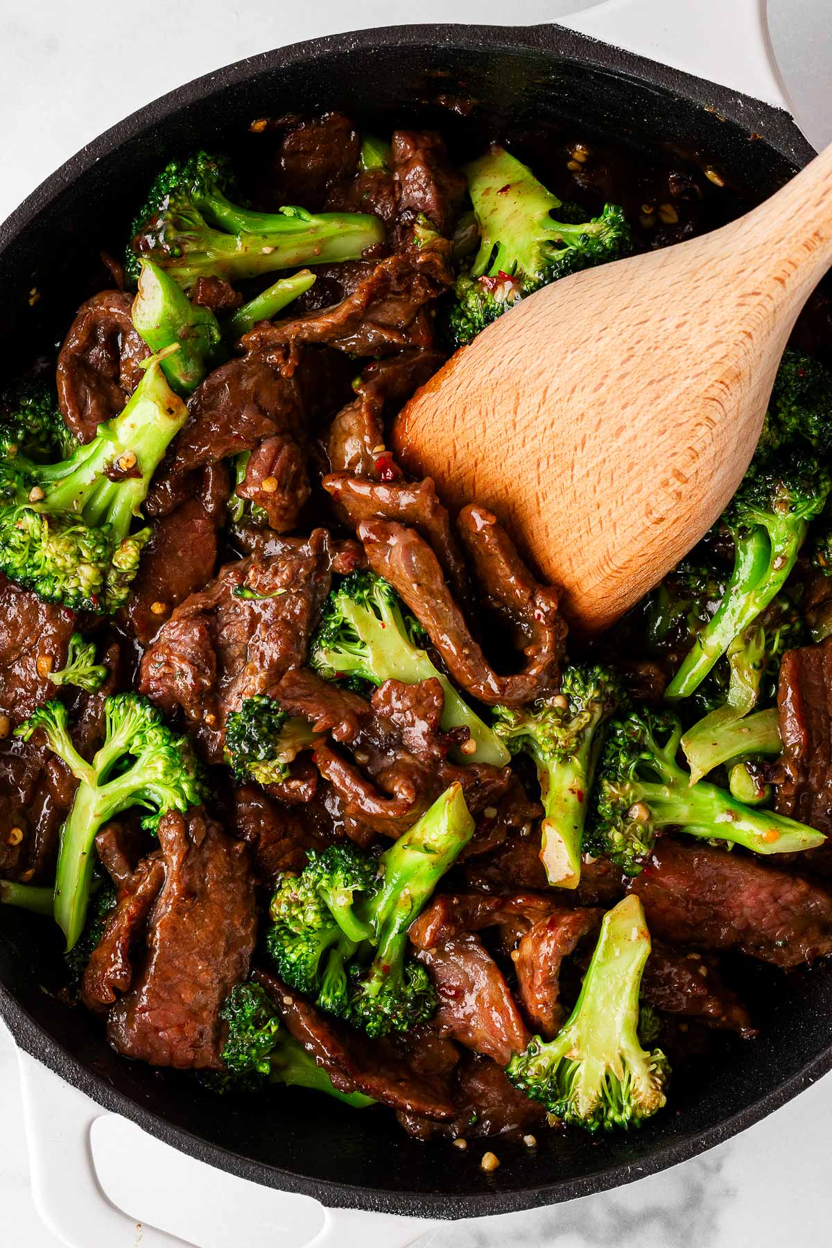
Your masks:
M 191 394 L 213 364 L 221 362 L 222 333 L 211 308 L 191 303 L 177 282 L 151 260 L 140 261 L 132 322 L 152 352 L 178 342 L 162 359 L 162 372 L 177 394 Z

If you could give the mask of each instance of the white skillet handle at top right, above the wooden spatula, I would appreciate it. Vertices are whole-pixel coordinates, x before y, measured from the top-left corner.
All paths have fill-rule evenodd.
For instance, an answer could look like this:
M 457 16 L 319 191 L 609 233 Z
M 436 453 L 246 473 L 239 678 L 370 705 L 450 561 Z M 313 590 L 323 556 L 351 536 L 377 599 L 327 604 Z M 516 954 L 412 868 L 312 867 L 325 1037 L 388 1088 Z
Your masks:
M 793 112 L 766 0 L 606 0 L 560 25 Z

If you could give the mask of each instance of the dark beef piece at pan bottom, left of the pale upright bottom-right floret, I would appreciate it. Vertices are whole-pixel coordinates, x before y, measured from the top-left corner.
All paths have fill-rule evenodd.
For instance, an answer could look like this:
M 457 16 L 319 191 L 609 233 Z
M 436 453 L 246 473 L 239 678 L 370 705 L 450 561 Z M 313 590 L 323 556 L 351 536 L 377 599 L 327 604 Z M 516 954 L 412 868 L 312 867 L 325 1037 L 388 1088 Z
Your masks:
M 399 1111 L 397 1118 L 409 1136 L 432 1139 L 474 1139 L 485 1136 L 520 1136 L 546 1126 L 546 1111 L 511 1087 L 505 1071 L 488 1057 L 464 1053 L 454 1072 L 455 1113 L 450 1122 L 437 1122 Z

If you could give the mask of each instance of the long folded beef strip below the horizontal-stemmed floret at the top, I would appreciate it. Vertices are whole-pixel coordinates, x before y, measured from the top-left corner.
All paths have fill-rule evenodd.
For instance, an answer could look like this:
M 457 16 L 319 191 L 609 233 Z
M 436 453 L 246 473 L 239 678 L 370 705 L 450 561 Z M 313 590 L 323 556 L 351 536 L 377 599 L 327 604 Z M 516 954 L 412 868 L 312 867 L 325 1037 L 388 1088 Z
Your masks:
M 247 351 L 274 351 L 289 343 L 324 342 L 353 356 L 384 356 L 404 347 L 430 347 L 428 306 L 453 286 L 449 245 L 388 256 L 341 303 L 308 317 L 254 326 L 243 336 Z

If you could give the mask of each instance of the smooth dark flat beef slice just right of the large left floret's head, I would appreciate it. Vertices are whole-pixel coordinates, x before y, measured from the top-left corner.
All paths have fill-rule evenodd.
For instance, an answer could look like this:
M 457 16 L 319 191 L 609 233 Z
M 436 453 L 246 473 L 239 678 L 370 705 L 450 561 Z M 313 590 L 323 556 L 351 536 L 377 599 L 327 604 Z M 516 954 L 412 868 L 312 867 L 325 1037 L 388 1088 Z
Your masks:
M 213 577 L 217 519 L 198 498 L 191 498 L 153 525 L 125 608 L 141 645 L 147 645 L 171 612 Z

